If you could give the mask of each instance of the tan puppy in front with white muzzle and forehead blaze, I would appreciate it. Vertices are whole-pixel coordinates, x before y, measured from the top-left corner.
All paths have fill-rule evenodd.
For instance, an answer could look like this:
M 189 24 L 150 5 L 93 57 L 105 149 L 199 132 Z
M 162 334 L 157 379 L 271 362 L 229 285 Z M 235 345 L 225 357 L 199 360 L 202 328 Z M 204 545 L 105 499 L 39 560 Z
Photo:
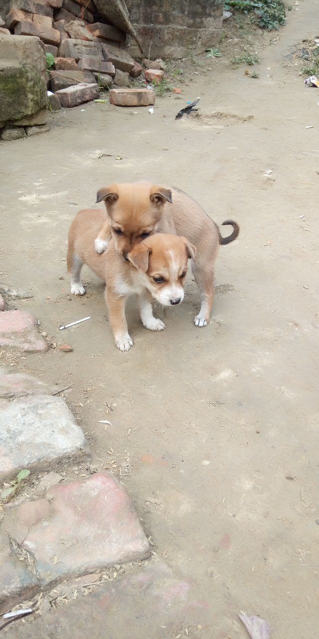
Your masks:
M 131 247 L 125 259 L 115 249 L 114 240 L 108 243 L 103 256 L 98 256 L 94 239 L 106 219 L 103 210 L 84 210 L 71 223 L 67 254 L 71 293 L 84 295 L 80 272 L 87 264 L 106 282 L 106 302 L 115 345 L 120 351 L 128 351 L 133 346 L 125 318 L 128 295 L 137 293 L 145 328 L 164 330 L 165 324 L 153 316 L 151 298 L 164 306 L 181 304 L 188 259 L 195 258 L 196 249 L 182 236 L 156 233 Z

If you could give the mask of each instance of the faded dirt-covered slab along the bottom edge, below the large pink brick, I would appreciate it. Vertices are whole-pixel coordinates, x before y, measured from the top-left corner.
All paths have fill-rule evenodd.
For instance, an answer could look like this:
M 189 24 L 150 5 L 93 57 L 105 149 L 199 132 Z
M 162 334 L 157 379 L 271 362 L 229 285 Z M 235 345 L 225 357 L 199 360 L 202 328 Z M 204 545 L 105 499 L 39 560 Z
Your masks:
M 189 634 L 198 639 L 201 636 L 217 639 L 212 632 L 212 606 L 207 600 L 198 599 L 194 590 L 191 580 L 175 575 L 159 561 L 101 585 L 91 594 L 68 601 L 68 605 L 50 610 L 38 619 L 20 623 L 19 627 L 11 624 L 4 636 L 168 639 Z M 202 632 L 201 627 L 205 628 Z

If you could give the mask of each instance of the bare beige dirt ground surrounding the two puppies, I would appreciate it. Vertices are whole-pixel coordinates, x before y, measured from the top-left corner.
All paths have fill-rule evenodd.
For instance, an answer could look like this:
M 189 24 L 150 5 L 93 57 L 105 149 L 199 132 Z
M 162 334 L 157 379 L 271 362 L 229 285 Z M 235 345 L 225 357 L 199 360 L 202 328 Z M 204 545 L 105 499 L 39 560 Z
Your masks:
M 73 346 L 15 361 L 73 384 L 64 397 L 93 463 L 121 473 L 154 553 L 209 602 L 203 639 L 244 638 L 240 610 L 267 619 L 272 639 L 318 636 L 319 92 L 287 57 L 318 35 L 318 7 L 297 8 L 258 39 L 259 79 L 205 61 L 153 115 L 86 104 L 0 150 L 0 280 L 31 290 L 19 308 Z M 200 118 L 175 121 L 196 96 Z M 98 188 L 145 178 L 186 190 L 219 224 L 237 220 L 241 235 L 219 252 L 209 327 L 193 325 L 188 275 L 182 306 L 159 312 L 165 332 L 142 328 L 130 302 L 135 347 L 122 354 L 95 277 L 70 297 L 66 238 Z

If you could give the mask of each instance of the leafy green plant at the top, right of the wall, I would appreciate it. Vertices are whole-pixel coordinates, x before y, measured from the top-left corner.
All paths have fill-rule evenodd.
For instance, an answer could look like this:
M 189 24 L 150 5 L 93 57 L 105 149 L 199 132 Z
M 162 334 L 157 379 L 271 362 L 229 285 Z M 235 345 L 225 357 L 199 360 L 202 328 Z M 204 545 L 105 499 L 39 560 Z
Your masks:
M 261 29 L 279 29 L 285 24 L 286 12 L 283 0 L 227 0 L 225 11 L 252 13 L 251 22 Z

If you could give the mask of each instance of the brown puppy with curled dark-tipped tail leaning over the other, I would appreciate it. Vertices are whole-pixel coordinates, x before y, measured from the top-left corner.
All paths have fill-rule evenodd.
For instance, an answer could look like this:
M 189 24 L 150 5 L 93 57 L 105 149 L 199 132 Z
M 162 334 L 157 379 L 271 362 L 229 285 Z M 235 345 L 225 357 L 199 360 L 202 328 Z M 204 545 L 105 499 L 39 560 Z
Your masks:
M 107 220 L 95 241 L 98 253 L 105 250 L 113 237 L 115 249 L 126 259 L 133 247 L 152 233 L 176 233 L 195 245 L 197 253 L 191 268 L 202 303 L 194 321 L 198 327 L 207 326 L 214 298 L 214 262 L 218 247 L 237 238 L 238 224 L 232 220 L 223 222 L 234 229 L 223 238 L 215 222 L 186 193 L 149 182 L 112 184 L 98 191 L 96 201 L 104 201 L 107 209 Z

